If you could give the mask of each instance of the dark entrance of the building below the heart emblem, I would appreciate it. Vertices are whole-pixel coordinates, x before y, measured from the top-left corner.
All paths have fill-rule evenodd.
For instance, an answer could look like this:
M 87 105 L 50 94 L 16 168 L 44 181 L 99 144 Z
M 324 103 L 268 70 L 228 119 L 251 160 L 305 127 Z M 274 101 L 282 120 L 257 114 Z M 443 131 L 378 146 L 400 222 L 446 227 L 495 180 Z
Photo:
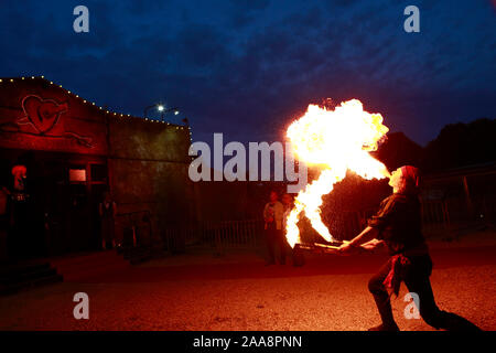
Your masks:
M 10 190 L 15 164 L 26 167 L 29 200 L 21 207 L 10 202 L 9 257 L 101 248 L 98 204 L 108 183 L 105 158 L 0 149 L 0 173 L 8 174 L 1 180 L 12 180 Z

